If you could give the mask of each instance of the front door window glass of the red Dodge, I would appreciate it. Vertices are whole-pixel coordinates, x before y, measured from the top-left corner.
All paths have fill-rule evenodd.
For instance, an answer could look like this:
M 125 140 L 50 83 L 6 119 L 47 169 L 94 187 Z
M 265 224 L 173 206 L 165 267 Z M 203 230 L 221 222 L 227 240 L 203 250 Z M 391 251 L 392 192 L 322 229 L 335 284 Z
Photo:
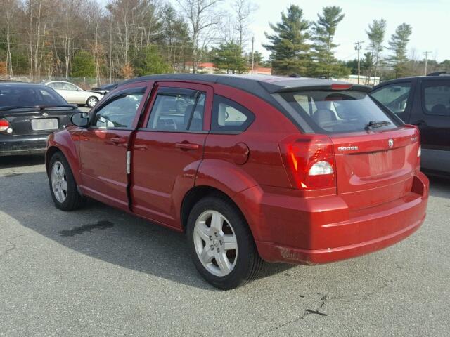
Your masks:
M 113 100 L 96 113 L 94 126 L 98 128 L 131 128 L 142 93 L 131 93 Z

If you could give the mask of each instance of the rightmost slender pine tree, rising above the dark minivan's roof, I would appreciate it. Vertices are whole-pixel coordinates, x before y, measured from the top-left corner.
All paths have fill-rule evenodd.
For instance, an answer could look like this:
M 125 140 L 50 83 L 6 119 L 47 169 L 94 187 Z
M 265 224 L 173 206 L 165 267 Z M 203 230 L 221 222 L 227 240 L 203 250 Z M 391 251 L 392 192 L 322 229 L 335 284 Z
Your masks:
M 411 26 L 402 23 L 395 29 L 389 41 L 389 49 L 392 55 L 388 58 L 390 65 L 394 68 L 395 77 L 404 77 L 406 75 L 405 66 L 408 58 L 406 57 L 406 46 L 408 46 L 409 37 L 411 37 Z

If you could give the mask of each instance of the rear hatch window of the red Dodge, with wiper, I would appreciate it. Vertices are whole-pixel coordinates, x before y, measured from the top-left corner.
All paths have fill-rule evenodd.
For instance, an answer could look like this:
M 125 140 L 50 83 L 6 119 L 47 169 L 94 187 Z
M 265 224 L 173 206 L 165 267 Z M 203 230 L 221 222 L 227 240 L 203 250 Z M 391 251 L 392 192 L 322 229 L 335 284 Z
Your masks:
M 361 91 L 295 91 L 281 96 L 316 133 L 364 131 L 370 122 L 387 122 L 374 128 L 377 131 L 397 127 L 397 121 Z

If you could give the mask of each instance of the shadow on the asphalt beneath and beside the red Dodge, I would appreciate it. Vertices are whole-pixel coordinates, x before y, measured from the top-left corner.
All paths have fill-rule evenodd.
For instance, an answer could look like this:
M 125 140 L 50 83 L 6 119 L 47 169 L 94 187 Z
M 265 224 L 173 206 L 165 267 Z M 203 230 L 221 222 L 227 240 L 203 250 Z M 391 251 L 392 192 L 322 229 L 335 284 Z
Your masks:
M 9 192 L 0 194 L 0 211 L 58 244 L 130 270 L 217 291 L 195 270 L 183 233 L 93 200 L 83 209 L 60 211 L 53 205 L 44 171 L 0 176 L 0 185 Z M 265 263 L 259 278 L 291 267 Z

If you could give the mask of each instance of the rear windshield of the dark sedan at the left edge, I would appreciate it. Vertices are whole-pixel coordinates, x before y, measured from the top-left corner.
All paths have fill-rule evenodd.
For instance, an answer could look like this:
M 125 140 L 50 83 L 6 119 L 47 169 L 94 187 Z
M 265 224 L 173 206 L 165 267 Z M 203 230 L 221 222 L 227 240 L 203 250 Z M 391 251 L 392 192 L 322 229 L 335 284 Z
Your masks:
M 0 107 L 68 104 L 56 91 L 39 85 L 0 84 Z

